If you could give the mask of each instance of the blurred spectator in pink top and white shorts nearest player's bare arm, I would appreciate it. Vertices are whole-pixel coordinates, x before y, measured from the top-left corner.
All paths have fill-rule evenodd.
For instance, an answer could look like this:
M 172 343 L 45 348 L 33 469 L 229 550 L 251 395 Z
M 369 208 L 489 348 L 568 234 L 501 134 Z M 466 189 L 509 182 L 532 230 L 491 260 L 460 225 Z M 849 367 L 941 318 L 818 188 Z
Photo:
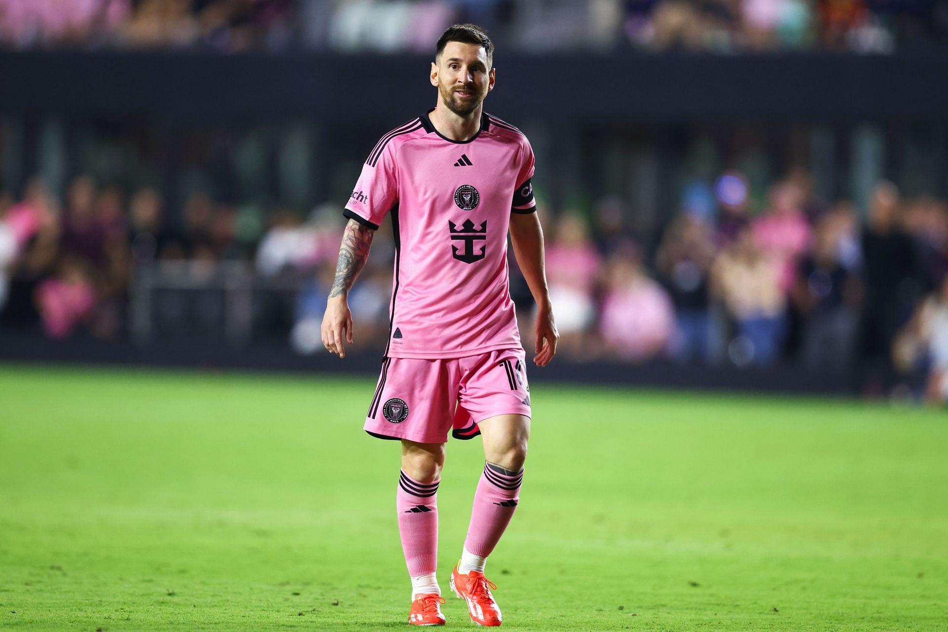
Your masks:
M 546 246 L 550 301 L 555 305 L 559 344 L 568 353 L 582 354 L 584 334 L 595 321 L 593 286 L 601 258 L 578 215 L 562 215 L 554 239 Z

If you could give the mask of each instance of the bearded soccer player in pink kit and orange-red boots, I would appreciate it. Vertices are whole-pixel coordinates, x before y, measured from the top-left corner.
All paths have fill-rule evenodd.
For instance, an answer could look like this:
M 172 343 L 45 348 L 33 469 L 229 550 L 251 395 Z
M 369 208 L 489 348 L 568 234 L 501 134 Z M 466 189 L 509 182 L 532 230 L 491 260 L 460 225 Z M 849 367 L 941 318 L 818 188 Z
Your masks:
M 483 436 L 486 463 L 450 587 L 470 618 L 500 625 L 484 576 L 514 515 L 530 435 L 530 388 L 508 289 L 507 233 L 537 301 L 534 362 L 556 353 L 556 324 L 535 212 L 534 155 L 513 125 L 483 113 L 494 89 L 494 45 L 483 28 L 455 25 L 431 63 L 437 104 L 382 136 L 346 205 L 349 218 L 322 321 L 326 349 L 353 341 L 346 296 L 375 229 L 392 217 L 395 243 L 389 342 L 365 430 L 401 442 L 398 530 L 411 578 L 409 623 L 442 625 L 437 492 L 448 432 Z

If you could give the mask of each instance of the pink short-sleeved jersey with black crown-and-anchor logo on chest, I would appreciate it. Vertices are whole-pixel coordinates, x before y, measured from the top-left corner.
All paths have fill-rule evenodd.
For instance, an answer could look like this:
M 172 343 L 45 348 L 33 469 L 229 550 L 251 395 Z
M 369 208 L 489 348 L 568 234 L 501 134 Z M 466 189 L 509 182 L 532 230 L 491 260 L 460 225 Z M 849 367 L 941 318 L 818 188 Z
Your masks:
M 507 229 L 511 212 L 537 209 L 533 173 L 526 136 L 487 114 L 464 142 L 440 135 L 427 114 L 378 141 L 344 214 L 371 228 L 392 214 L 387 357 L 460 358 L 520 347 Z

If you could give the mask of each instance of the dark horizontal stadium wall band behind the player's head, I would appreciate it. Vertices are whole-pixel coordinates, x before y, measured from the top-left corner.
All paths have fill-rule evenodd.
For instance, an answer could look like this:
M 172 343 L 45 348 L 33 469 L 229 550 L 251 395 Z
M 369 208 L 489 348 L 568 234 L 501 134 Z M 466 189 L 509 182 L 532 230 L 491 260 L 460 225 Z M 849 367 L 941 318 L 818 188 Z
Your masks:
M 426 56 L 0 53 L 0 112 L 189 121 L 401 120 L 432 99 Z M 940 120 L 948 54 L 498 56 L 505 116 L 544 120 Z M 371 91 L 366 68 L 371 67 Z M 412 74 L 413 73 L 413 74 Z M 417 77 L 417 81 L 406 78 Z M 384 103 L 370 95 L 384 95 Z M 552 102 L 551 102 L 552 99 Z M 390 113 L 388 116 L 385 113 Z

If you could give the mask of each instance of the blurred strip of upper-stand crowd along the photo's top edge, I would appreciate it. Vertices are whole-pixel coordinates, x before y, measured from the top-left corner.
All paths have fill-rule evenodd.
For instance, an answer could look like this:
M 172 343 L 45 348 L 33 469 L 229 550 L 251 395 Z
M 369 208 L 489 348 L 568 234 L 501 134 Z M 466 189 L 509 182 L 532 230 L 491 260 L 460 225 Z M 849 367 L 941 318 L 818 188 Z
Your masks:
M 501 52 L 891 52 L 944 45 L 948 0 L 0 0 L 0 47 L 428 53 L 459 21 Z

